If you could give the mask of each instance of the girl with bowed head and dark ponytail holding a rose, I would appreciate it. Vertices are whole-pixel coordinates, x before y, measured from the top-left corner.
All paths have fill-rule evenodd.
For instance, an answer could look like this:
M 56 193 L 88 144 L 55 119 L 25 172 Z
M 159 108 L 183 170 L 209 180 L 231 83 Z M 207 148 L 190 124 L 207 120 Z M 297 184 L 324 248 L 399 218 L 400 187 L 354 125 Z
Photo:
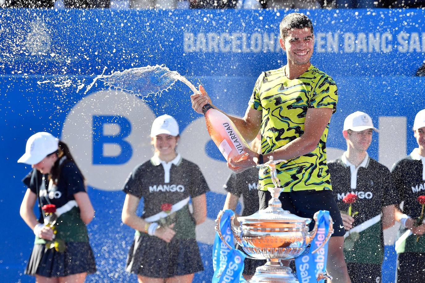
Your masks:
M 28 139 L 18 162 L 33 168 L 23 179 L 28 189 L 20 208 L 35 234 L 25 273 L 35 275 L 39 283 L 84 282 L 88 273 L 96 272 L 85 226 L 94 209 L 68 146 L 50 133 L 38 132 Z M 37 201 L 39 219 L 33 210 Z

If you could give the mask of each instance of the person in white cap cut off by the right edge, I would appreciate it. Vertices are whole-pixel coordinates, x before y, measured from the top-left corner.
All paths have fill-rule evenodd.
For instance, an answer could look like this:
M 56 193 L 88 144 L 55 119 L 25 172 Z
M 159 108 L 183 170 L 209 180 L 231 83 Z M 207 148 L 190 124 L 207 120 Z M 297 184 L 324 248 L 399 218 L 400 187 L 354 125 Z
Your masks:
M 425 196 L 425 109 L 416 114 L 413 132 L 418 147 L 394 164 L 391 172 L 397 202 L 404 202 L 402 210 L 395 210 L 401 224 L 396 242 L 398 283 L 425 282 L 425 224 L 418 223 L 422 211 L 418 197 Z

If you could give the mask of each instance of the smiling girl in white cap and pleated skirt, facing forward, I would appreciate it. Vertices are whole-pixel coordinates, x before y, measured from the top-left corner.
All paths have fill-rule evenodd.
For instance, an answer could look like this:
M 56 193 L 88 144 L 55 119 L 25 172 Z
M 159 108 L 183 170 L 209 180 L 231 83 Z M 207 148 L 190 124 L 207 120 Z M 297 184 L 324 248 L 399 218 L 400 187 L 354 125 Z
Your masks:
M 136 230 L 126 270 L 139 282 L 188 283 L 204 270 L 195 226 L 206 219 L 209 189 L 199 167 L 177 153 L 178 134 L 173 117 L 156 118 L 150 133 L 155 153 L 134 168 L 124 185 L 122 221 Z M 142 197 L 140 217 L 136 209 Z

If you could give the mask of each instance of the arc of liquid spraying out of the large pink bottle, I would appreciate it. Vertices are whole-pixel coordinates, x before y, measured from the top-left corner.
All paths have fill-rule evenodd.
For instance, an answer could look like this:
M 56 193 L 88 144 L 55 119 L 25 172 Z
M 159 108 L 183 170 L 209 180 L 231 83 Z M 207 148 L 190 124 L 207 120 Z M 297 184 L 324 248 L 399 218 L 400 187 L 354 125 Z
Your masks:
M 105 69 L 103 72 L 105 72 Z M 168 90 L 177 80 L 186 84 L 193 92 L 198 92 L 196 87 L 187 78 L 181 76 L 176 71 L 171 71 L 163 65 L 131 68 L 122 72 L 114 72 L 111 75 L 104 75 L 102 73 L 94 78 L 84 93 L 87 93 L 98 79 L 104 81 L 110 87 L 142 96 L 149 94 L 156 95 L 164 90 Z

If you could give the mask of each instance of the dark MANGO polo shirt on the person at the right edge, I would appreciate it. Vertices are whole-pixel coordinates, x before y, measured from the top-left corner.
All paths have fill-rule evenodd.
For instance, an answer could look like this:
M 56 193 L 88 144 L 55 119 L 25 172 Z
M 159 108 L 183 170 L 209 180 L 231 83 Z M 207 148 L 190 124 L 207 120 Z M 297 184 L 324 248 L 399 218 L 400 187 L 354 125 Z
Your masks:
M 395 163 L 391 171 L 391 177 L 394 180 L 394 186 L 397 194 L 397 204 L 403 205 L 403 213 L 413 219 L 419 218 L 422 205 L 417 198 L 425 196 L 425 180 L 423 179 L 422 160 L 415 151 L 410 155 Z M 400 227 L 399 235 L 402 235 L 406 229 Z M 405 252 L 425 252 L 425 237 L 419 237 L 416 242 L 416 236 L 411 235 L 406 239 Z

